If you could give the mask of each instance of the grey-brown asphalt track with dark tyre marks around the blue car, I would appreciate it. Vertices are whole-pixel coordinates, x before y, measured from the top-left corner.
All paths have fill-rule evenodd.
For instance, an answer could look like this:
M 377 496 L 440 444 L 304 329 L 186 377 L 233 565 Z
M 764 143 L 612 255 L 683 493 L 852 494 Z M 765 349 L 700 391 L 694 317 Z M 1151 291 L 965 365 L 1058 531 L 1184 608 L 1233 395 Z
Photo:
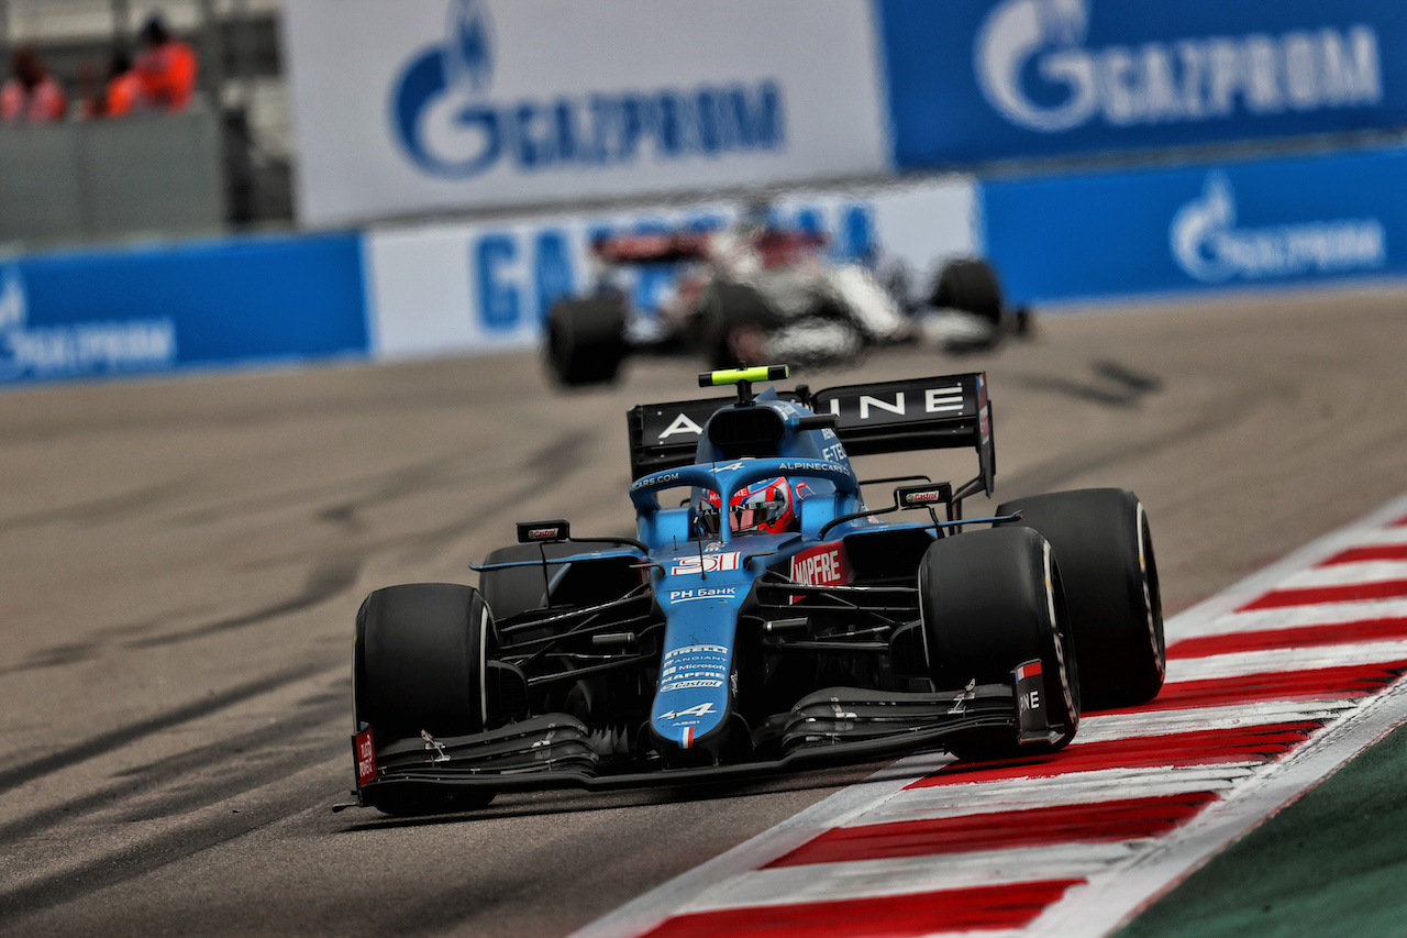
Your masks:
M 1384 287 L 1088 311 L 808 379 L 986 369 L 999 497 L 1134 489 L 1171 614 L 1407 489 L 1404 308 Z M 514 520 L 629 532 L 623 411 L 696 370 L 566 397 L 528 355 L 0 394 L 0 934 L 564 935 L 871 772 L 331 811 L 362 597 L 473 583 Z

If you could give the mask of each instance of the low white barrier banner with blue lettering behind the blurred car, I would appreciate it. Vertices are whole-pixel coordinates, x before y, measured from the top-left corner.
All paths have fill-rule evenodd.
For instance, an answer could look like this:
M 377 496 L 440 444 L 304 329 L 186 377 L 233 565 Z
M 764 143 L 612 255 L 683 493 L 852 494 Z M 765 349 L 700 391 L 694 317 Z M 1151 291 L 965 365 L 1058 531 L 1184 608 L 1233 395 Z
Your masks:
M 719 228 L 740 203 L 654 213 L 547 217 L 494 224 L 380 230 L 366 235 L 371 352 L 404 358 L 528 348 L 564 294 L 590 290 L 598 232 Z M 967 179 L 868 196 L 801 194 L 774 207 L 782 225 L 823 231 L 837 256 L 896 261 L 927 276 L 944 258 L 978 254 L 975 189 Z M 635 301 L 651 308 L 673 284 L 644 270 Z

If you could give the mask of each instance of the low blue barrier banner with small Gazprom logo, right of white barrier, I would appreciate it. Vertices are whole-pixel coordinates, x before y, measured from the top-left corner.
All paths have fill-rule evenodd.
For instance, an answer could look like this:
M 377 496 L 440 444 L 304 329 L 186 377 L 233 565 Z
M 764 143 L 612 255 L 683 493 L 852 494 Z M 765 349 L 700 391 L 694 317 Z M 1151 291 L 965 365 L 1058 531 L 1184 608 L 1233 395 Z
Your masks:
M 981 186 L 1014 301 L 1407 273 L 1407 151 Z

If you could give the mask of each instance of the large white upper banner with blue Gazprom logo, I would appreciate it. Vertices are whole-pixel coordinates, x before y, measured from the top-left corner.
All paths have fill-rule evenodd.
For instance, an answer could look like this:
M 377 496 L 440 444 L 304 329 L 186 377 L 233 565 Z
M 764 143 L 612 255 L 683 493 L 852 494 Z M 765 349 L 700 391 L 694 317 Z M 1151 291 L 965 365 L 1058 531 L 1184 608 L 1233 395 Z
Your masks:
M 305 224 L 888 166 L 860 0 L 283 8 Z

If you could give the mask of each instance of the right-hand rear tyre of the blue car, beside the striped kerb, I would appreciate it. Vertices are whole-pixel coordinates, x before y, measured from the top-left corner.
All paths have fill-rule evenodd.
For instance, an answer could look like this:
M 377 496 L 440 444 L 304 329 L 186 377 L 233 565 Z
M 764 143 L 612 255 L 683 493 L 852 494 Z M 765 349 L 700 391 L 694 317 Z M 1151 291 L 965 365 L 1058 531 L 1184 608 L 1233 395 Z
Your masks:
M 1148 513 L 1126 489 L 1054 492 L 1007 501 L 1013 527 L 1050 541 L 1065 582 L 1081 686 L 1090 708 L 1152 700 L 1166 651 Z

